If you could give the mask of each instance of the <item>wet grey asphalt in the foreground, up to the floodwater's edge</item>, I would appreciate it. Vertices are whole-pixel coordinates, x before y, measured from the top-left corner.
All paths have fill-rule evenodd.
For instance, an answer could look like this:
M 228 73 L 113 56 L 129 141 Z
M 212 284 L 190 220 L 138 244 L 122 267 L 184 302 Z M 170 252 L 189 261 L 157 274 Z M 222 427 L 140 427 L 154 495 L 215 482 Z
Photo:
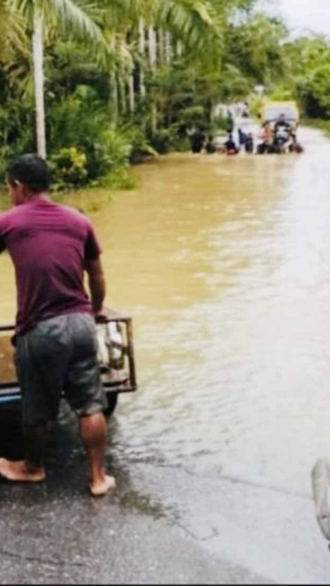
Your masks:
M 118 412 L 108 423 L 111 495 L 89 497 L 66 408 L 47 482 L 0 482 L 0 584 L 329 584 L 310 495 L 134 457 Z M 1 455 L 21 458 L 19 416 L 0 419 Z

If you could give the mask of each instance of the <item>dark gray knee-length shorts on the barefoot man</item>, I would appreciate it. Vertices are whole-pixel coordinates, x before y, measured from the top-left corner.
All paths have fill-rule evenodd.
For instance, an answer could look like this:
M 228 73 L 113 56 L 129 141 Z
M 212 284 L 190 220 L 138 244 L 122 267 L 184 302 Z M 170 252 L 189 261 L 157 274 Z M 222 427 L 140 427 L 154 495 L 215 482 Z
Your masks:
M 107 406 L 97 361 L 94 318 L 69 313 L 39 322 L 17 339 L 17 374 L 25 425 L 55 421 L 64 392 L 78 416 Z

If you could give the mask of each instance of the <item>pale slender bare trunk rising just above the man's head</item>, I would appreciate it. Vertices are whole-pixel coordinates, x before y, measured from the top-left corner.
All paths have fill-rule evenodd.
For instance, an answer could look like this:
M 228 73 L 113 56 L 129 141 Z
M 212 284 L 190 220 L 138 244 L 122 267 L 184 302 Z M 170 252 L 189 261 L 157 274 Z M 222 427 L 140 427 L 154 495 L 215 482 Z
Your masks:
M 45 87 L 43 77 L 43 16 L 34 8 L 32 37 L 34 64 L 34 99 L 36 104 L 36 142 L 38 154 L 46 158 Z

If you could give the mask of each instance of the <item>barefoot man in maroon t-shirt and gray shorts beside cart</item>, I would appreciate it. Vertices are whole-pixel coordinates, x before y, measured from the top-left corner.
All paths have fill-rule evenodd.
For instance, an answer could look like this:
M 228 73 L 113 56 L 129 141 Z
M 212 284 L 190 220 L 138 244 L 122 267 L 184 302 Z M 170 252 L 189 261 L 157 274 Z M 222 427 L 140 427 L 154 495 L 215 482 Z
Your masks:
M 87 451 L 89 491 L 100 496 L 115 486 L 104 471 L 106 403 L 96 359 L 95 318 L 103 315 L 105 297 L 101 251 L 90 221 L 53 203 L 49 189 L 47 165 L 37 155 L 23 155 L 8 171 L 14 207 L 0 215 L 0 252 L 8 250 L 16 272 L 26 457 L 1 458 L 0 475 L 13 482 L 45 480 L 45 446 L 64 390 Z

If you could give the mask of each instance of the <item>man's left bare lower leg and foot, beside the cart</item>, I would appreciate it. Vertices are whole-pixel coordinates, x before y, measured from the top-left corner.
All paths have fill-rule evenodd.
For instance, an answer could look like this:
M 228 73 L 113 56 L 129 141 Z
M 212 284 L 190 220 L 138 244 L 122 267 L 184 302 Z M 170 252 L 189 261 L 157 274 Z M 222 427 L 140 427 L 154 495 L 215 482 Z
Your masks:
M 19 462 L 0 458 L 1 476 L 12 482 L 43 482 L 46 477 L 43 458 L 49 434 L 49 423 L 25 427 L 26 458 Z

